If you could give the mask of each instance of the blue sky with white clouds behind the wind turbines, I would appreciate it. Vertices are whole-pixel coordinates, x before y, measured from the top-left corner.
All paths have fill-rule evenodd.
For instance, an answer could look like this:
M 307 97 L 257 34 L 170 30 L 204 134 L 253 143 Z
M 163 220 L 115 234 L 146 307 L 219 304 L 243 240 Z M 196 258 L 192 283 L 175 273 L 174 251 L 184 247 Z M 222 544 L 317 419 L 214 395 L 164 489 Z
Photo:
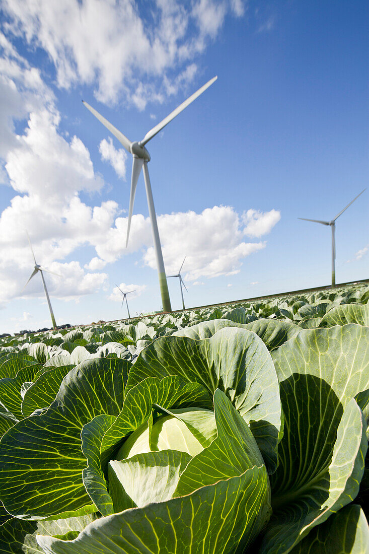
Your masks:
M 125 249 L 131 156 L 81 103 L 147 145 L 168 274 L 187 306 L 330 281 L 331 219 L 368 181 L 367 2 L 3 0 L 0 332 L 159 310 L 145 187 Z M 369 269 L 369 190 L 336 224 L 336 279 Z M 178 282 L 168 281 L 173 309 Z

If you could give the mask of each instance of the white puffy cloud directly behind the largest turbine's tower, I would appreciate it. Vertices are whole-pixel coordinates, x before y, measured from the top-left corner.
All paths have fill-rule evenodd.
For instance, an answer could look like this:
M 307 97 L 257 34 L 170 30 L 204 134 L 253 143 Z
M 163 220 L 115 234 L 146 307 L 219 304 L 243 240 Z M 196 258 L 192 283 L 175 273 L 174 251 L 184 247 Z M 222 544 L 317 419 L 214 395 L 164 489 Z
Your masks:
M 186 255 L 182 273 L 190 281 L 234 275 L 240 270 L 242 259 L 266 244 L 244 242 L 243 218 L 230 206 L 214 206 L 201 213 L 164 214 L 157 220 L 167 273 L 177 273 Z M 269 224 L 268 232 L 270 228 Z M 127 218 L 116 218 L 115 227 L 105 234 L 104 241 L 96 244 L 99 257 L 112 262 L 126 253 L 142 250 L 143 263 L 156 269 L 150 219 L 141 214 L 132 217 L 127 249 L 126 231 Z

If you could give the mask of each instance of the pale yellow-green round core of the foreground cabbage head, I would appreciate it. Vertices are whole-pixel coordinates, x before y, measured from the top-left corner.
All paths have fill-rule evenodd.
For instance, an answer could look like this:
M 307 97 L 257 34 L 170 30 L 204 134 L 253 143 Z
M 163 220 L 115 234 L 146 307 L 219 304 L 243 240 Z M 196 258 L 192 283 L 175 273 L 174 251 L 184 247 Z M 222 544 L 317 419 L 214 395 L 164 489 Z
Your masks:
M 117 452 L 116 459 L 132 458 L 135 454 L 179 450 L 196 456 L 217 435 L 214 413 L 201 408 L 172 410 L 175 416 L 163 416 L 152 425 L 151 448 L 148 423 L 143 423 Z M 178 419 L 178 418 L 181 419 Z M 186 420 L 187 424 L 182 420 Z M 190 430 L 191 429 L 191 430 Z M 196 435 L 196 436 L 195 436 Z

